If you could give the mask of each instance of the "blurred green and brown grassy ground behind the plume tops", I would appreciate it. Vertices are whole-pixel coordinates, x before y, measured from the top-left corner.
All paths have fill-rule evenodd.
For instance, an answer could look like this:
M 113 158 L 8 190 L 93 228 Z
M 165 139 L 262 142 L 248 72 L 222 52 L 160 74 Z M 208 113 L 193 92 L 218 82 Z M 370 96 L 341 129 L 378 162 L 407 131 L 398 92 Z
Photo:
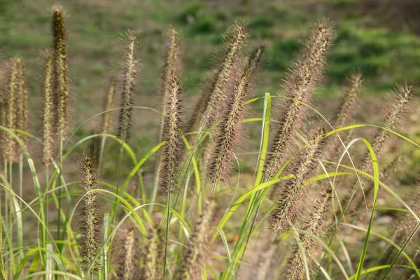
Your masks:
M 367 105 L 362 104 L 369 113 L 363 114 L 367 118 L 374 115 L 372 106 L 381 104 L 395 83 L 420 78 L 420 5 L 416 0 L 1 0 L 0 50 L 3 57 L 25 58 L 34 116 L 38 114 L 40 97 L 39 50 L 51 45 L 49 9 L 54 3 L 64 6 L 68 15 L 75 125 L 102 111 L 109 80 L 118 73 L 123 59 L 123 45 L 117 39 L 127 29 L 134 29 L 139 38 L 137 53 L 141 66 L 136 102 L 139 106 L 159 108 L 157 92 L 167 28 L 175 27 L 181 34 L 188 109 L 195 104 L 202 78 L 212 67 L 214 47 L 221 43 L 223 31 L 235 20 L 250 27 L 253 37 L 250 48 L 261 41 L 268 46 L 255 95 L 281 90 L 285 70 L 302 47 L 305 32 L 324 17 L 335 22 L 337 28 L 324 84 L 316 94 L 316 102 L 323 105 L 325 115 L 335 110 L 344 78 L 352 71 L 361 71 L 365 78 L 361 98 L 367 100 Z M 369 122 L 366 116 L 364 120 Z M 139 151 L 148 151 L 155 144 L 156 120 L 157 116 L 148 112 L 135 118 L 137 145 L 133 146 Z M 415 123 L 416 119 L 411 121 Z M 99 122 L 97 118 L 84 125 L 78 136 L 90 134 Z M 404 131 L 414 141 L 420 139 L 418 129 L 404 127 Z M 409 164 L 418 166 L 419 159 L 420 155 L 414 156 Z

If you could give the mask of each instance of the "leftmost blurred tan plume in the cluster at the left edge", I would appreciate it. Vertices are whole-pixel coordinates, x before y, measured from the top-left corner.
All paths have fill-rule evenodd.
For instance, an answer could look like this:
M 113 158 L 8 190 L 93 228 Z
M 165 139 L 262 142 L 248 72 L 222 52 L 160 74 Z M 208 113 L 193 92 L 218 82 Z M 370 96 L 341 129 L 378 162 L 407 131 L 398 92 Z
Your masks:
M 16 104 L 18 90 L 18 62 L 16 59 L 8 63 L 8 79 L 6 86 L 6 127 L 10 130 L 18 128 L 18 104 Z M 4 158 L 9 162 L 16 160 L 16 148 L 18 143 L 10 133 L 5 133 L 4 137 Z

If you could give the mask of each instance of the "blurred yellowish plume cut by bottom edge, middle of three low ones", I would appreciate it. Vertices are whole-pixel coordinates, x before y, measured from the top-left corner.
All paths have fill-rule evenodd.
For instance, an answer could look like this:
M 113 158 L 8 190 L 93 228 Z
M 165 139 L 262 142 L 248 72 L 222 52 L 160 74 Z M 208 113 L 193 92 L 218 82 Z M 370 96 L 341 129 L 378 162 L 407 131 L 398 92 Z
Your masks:
M 165 240 L 162 238 L 162 232 L 151 228 L 141 253 L 140 279 L 157 280 L 162 278 L 161 270 L 165 258 L 163 248 L 165 248 Z

